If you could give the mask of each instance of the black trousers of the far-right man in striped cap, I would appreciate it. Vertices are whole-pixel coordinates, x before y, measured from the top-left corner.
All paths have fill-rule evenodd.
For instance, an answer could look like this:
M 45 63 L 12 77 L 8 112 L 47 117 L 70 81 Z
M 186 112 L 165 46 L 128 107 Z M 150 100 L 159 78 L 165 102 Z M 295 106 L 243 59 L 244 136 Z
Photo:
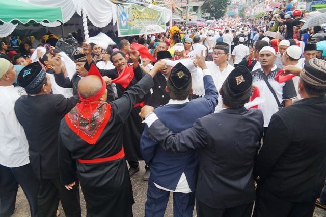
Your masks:
M 291 202 L 262 192 L 258 187 L 253 217 L 312 217 L 315 201 Z

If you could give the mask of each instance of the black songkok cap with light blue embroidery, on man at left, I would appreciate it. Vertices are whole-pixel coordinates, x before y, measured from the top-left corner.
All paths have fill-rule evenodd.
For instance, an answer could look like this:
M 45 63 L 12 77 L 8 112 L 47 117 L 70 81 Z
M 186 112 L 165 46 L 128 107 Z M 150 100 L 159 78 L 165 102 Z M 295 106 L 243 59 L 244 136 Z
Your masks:
M 17 83 L 26 90 L 33 90 L 45 79 L 45 71 L 39 62 L 34 62 L 21 69 Z

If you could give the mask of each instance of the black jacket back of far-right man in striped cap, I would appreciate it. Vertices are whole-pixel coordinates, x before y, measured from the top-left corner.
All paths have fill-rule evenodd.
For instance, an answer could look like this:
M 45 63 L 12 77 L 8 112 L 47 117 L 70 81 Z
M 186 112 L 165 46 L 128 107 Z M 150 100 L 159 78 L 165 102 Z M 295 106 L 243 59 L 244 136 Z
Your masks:
M 326 97 L 315 97 L 273 115 L 255 166 L 262 188 L 293 202 L 319 196 L 326 176 L 325 113 Z

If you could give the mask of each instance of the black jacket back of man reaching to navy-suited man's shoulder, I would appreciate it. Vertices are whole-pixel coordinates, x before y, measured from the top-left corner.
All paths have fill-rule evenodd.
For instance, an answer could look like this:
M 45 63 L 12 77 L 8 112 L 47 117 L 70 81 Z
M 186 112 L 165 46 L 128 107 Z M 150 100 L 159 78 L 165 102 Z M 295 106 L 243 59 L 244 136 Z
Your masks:
M 224 109 L 196 123 L 207 135 L 207 145 L 199 149 L 198 199 L 213 208 L 254 201 L 252 170 L 263 132 L 262 112 Z

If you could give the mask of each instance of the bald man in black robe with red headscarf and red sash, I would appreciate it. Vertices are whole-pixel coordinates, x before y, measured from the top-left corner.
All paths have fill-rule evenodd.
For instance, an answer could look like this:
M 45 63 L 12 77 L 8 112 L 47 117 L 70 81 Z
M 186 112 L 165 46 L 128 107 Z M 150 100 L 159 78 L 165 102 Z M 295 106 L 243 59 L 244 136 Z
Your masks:
M 137 59 L 138 52 L 131 58 Z M 138 57 L 139 58 L 139 57 Z M 69 190 L 78 173 L 87 216 L 132 216 L 132 187 L 124 159 L 123 127 L 134 105 L 154 86 L 153 77 L 166 67 L 158 62 L 123 95 L 110 103 L 106 83 L 92 63 L 88 76 L 78 83 L 78 103 L 61 121 L 59 167 Z

